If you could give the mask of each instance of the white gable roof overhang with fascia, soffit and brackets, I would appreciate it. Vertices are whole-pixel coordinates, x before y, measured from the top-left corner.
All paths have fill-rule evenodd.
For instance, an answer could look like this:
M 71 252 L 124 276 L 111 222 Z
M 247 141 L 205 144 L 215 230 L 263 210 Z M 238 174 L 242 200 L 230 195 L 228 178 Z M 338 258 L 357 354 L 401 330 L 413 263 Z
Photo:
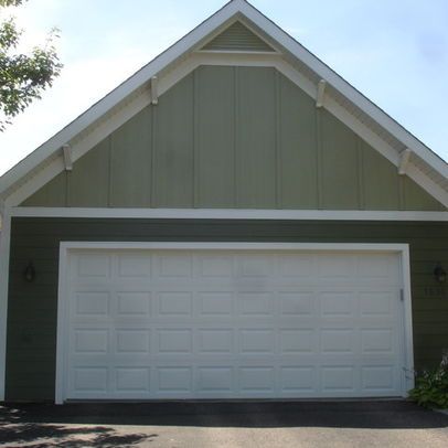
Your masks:
M 256 51 L 225 51 L 220 34 L 244 24 Z M 217 39 L 216 39 L 217 38 Z M 263 43 L 262 43 L 263 41 Z M 266 44 L 266 47 L 264 47 Z M 266 50 L 266 51 L 264 51 Z M 435 199 L 448 206 L 448 164 L 300 43 L 245 0 L 232 0 L 120 84 L 0 178 L 0 204 L 19 205 L 64 170 L 62 148 L 73 161 L 201 63 L 267 63 L 276 66 Z M 158 93 L 156 92 L 158 90 Z

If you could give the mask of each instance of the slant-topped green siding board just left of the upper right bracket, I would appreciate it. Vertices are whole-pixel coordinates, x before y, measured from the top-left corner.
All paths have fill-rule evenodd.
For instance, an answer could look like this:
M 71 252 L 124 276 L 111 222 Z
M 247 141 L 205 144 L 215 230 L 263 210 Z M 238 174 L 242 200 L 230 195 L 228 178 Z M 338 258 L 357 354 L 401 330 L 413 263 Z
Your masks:
M 281 207 L 318 209 L 314 103 L 280 76 Z

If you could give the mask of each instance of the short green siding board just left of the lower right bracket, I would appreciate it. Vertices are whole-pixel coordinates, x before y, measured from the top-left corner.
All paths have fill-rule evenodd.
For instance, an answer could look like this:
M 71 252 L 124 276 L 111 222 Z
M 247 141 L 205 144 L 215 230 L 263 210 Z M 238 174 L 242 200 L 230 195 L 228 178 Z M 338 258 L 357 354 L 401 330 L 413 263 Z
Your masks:
M 361 145 L 365 209 L 399 210 L 397 168 L 366 142 Z

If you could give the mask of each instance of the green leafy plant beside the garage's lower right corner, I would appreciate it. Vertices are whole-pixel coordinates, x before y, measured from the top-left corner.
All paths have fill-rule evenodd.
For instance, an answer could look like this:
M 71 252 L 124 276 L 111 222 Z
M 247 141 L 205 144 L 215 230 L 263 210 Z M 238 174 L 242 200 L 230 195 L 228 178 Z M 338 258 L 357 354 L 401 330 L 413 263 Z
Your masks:
M 448 408 L 448 352 L 437 369 L 416 375 L 409 397 L 420 406 Z

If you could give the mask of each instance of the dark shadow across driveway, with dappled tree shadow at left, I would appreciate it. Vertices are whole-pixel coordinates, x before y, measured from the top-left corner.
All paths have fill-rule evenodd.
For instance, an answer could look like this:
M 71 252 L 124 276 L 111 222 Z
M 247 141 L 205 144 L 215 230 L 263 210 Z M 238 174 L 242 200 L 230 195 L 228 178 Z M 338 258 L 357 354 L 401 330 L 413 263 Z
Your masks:
M 6 404 L 1 444 L 131 447 L 159 437 L 148 426 L 216 428 L 448 428 L 448 416 L 405 401 Z M 141 430 L 139 430 L 139 428 Z M 31 444 L 31 445 L 29 445 Z

